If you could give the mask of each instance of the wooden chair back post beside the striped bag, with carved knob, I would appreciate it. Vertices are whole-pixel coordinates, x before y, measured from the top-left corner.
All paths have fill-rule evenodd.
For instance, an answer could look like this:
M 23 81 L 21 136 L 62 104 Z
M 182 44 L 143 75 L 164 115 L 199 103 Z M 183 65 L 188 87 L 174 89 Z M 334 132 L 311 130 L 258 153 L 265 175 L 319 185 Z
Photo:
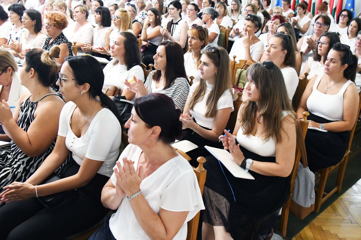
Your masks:
M 303 137 L 303 141 L 305 140 L 305 137 L 306 137 L 307 127 L 308 127 L 307 117 L 309 115 L 310 114 L 308 112 L 303 112 L 303 119 L 302 120 L 300 119 L 297 122 L 297 125 L 300 125 L 301 128 L 302 128 L 302 132 L 299 132 L 298 126 L 296 128 L 296 131 L 298 131 L 297 134 L 300 133 L 300 135 Z M 282 207 L 281 219 L 280 219 L 280 223 L 279 223 L 279 231 L 282 233 L 283 236 L 286 236 L 288 214 L 290 214 L 290 207 L 291 207 L 293 189 L 295 187 L 297 168 L 298 168 L 298 164 L 300 162 L 300 159 L 301 159 L 301 149 L 300 149 L 299 143 L 297 142 L 296 143 L 295 163 L 293 164 L 292 172 L 291 172 L 291 175 L 290 175 L 290 177 L 291 177 L 290 198 L 287 200 L 286 204 L 284 204 L 283 207 Z

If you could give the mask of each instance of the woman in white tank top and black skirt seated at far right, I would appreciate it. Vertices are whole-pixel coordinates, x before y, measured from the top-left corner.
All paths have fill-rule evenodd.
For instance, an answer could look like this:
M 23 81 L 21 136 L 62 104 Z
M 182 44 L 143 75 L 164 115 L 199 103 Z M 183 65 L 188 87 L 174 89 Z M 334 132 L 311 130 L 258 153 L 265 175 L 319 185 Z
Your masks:
M 297 116 L 308 111 L 309 127 L 326 130 L 306 133 L 308 166 L 313 172 L 339 163 L 345 154 L 358 116 L 356 68 L 350 47 L 338 42 L 327 55 L 325 74 L 314 76 L 302 95 Z

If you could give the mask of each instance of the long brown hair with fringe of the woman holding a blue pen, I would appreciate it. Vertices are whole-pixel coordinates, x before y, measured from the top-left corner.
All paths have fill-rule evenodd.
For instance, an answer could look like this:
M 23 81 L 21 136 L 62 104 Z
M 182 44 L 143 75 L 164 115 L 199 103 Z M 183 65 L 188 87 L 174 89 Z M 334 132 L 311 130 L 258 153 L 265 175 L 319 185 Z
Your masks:
M 264 129 L 260 133 L 264 141 L 273 138 L 276 143 L 282 141 L 282 111 L 293 113 L 296 121 L 296 114 L 292 110 L 291 101 L 288 99 L 286 85 L 281 70 L 274 64 L 271 69 L 263 66 L 262 63 L 252 64 L 246 72 L 248 81 L 255 82 L 260 91 L 258 103 L 245 101 L 245 107 L 240 112 L 240 122 L 243 133 L 249 136 L 255 127 L 256 121 L 263 121 Z M 258 117 L 256 114 L 258 111 Z

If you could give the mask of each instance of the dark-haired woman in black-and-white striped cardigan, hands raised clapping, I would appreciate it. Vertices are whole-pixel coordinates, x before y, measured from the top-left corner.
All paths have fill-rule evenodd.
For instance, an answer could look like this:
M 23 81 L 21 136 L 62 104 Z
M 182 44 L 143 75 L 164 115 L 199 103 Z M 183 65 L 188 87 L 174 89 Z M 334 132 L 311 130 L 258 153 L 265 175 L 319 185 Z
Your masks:
M 144 86 L 143 81 L 134 78 L 130 84 L 125 81 L 129 90 L 136 93 L 136 97 L 151 92 L 158 92 L 173 99 L 175 107 L 183 110 L 186 104 L 189 83 L 184 69 L 183 50 L 179 44 L 172 41 L 161 42 L 154 58 L 156 70 L 149 73 Z

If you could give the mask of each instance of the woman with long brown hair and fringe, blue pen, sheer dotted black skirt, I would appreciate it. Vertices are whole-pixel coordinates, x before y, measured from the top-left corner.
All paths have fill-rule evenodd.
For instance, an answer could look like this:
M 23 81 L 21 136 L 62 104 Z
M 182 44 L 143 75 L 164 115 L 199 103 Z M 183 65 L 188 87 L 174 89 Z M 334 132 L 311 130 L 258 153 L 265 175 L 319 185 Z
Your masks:
M 268 236 L 290 196 L 296 114 L 282 72 L 266 61 L 252 64 L 246 74 L 249 99 L 239 109 L 233 133 L 224 130 L 218 138 L 236 164 L 255 179 L 234 177 L 218 160 L 206 158 L 204 167 L 212 177 L 206 178 L 203 190 L 203 239 Z

